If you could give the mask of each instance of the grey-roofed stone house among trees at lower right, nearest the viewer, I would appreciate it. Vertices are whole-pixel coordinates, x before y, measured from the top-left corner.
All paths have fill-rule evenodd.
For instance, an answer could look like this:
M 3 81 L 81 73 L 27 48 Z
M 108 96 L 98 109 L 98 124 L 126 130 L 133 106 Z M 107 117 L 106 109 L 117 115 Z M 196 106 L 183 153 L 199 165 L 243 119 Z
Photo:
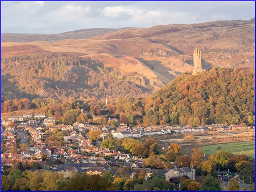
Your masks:
M 190 179 L 195 180 L 195 168 L 190 169 L 189 167 L 176 167 L 170 169 L 166 173 L 166 180 L 169 182 L 172 177 L 183 177 L 183 175 L 188 176 Z

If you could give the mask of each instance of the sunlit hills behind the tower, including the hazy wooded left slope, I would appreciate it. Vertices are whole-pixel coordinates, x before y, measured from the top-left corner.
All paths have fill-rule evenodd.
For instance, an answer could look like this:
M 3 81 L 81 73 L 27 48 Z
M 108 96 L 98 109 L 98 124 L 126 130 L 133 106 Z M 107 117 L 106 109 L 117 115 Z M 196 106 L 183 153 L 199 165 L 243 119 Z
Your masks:
M 68 72 L 70 80 L 75 81 L 76 89 L 65 90 L 66 96 L 79 96 L 78 92 L 87 92 L 81 91 L 84 89 L 88 90 L 89 95 L 97 97 L 111 95 L 111 92 L 115 92 L 113 97 L 129 95 L 129 89 L 134 91 L 130 92 L 134 96 L 145 96 L 159 90 L 182 73 L 191 72 L 196 46 L 201 49 L 202 67 L 206 70 L 214 67 L 254 69 L 254 35 L 254 18 L 189 25 L 157 25 L 151 28 L 87 29 L 56 35 L 2 34 L 1 78 L 2 82 L 6 83 L 4 86 L 7 90 L 12 77 L 15 80 L 11 82 L 15 85 L 14 90 L 17 90 L 17 93 L 29 90 L 26 94 L 37 94 L 38 83 L 45 82 L 41 88 L 48 90 L 52 95 L 54 91 L 51 89 L 57 89 L 56 85 L 61 84 L 63 90 L 68 86 L 68 83 L 60 81 L 60 78 L 67 80 L 64 72 Z M 12 42 L 9 42 L 8 38 Z M 34 58 L 33 62 L 30 57 Z M 62 63 L 60 69 L 56 67 L 60 58 L 76 62 Z M 83 70 L 80 69 L 84 67 L 79 65 L 79 62 L 84 61 L 90 64 L 87 70 L 96 73 L 96 87 L 104 85 L 100 92 L 97 92 L 99 90 L 96 88 L 94 91 L 88 89 L 88 80 L 92 79 L 93 75 L 86 74 L 85 78 L 86 71 L 82 73 Z M 100 64 L 99 69 L 91 69 L 94 63 Z M 26 79 L 26 83 L 31 84 L 34 81 L 30 79 L 32 76 L 28 77 L 28 74 L 22 74 L 20 71 L 31 68 L 38 70 L 34 77 L 38 79 L 38 83 L 34 83 L 30 88 L 26 85 L 25 89 L 25 85 L 19 85 L 23 82 L 22 78 Z M 17 69 L 20 71 L 14 72 Z M 47 74 L 47 71 L 51 71 L 51 75 Z M 72 76 L 76 78 L 72 79 Z M 112 88 L 108 83 L 110 77 L 115 79 L 110 81 L 115 84 Z M 51 89 L 49 86 L 52 86 Z M 61 93 L 63 94 L 61 91 L 58 94 Z

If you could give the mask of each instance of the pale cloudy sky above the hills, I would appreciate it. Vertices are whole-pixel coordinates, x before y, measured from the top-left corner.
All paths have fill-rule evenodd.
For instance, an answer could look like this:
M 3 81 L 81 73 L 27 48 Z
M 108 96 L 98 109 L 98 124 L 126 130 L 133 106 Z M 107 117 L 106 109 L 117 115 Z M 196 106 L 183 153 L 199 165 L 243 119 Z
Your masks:
M 249 20 L 255 2 L 1 2 L 1 33 L 58 34 L 91 28 L 148 28 L 214 20 Z

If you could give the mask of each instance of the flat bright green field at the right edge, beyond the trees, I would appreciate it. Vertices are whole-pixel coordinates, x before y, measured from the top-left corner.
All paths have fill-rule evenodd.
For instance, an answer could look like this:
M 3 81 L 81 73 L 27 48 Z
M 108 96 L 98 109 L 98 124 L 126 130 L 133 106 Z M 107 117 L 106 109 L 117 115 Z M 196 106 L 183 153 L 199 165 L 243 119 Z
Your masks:
M 217 149 L 217 147 L 219 149 Z M 220 149 L 221 147 L 221 149 Z M 233 155 L 246 155 L 249 158 L 255 157 L 255 141 L 229 142 L 226 144 L 207 145 L 201 147 L 205 155 L 212 155 L 220 150 L 227 150 Z

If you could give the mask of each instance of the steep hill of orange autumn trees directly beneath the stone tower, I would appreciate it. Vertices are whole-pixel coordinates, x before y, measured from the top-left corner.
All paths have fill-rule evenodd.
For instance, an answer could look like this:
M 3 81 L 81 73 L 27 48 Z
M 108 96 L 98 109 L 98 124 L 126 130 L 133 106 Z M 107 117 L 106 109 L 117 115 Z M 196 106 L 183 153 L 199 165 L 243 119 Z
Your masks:
M 148 97 L 145 124 L 254 124 L 255 70 L 213 68 L 182 74 Z

